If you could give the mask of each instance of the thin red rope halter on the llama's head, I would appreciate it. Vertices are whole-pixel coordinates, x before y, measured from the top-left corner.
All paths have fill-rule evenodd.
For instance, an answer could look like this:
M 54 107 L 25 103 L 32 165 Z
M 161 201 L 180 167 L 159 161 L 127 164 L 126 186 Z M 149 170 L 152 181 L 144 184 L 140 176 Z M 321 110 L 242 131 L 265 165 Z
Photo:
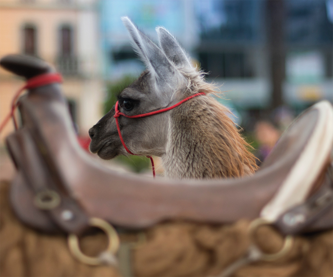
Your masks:
M 116 106 L 115 106 L 115 111 L 116 111 L 116 112 L 115 112 L 115 114 L 114 114 L 113 117 L 116 119 L 116 125 L 117 125 L 118 135 L 119 135 L 120 141 L 122 142 L 122 144 L 123 144 L 125 150 L 126 150 L 128 153 L 132 154 L 132 155 L 140 156 L 140 155 L 138 155 L 138 154 L 134 154 L 134 153 L 132 153 L 132 152 L 127 148 L 127 146 L 126 146 L 126 144 L 125 144 L 125 142 L 124 142 L 124 139 L 123 139 L 122 133 L 121 133 L 121 131 L 120 131 L 119 121 L 118 121 L 118 118 L 119 118 L 121 115 L 123 115 L 123 116 L 125 116 L 125 117 L 128 117 L 128 118 L 140 118 L 140 117 L 146 117 L 146 116 L 150 116 L 150 115 L 154 115 L 154 114 L 158 114 L 158 113 L 166 112 L 166 111 L 169 111 L 169 110 L 171 110 L 171 109 L 173 109 L 173 108 L 175 108 L 175 107 L 181 105 L 182 103 L 186 102 L 187 100 L 189 100 L 189 99 L 191 99 L 191 98 L 193 98 L 193 97 L 195 97 L 195 96 L 198 96 L 198 95 L 205 95 L 205 93 L 204 93 L 204 92 L 199 92 L 199 93 L 196 93 L 196 94 L 193 94 L 193 95 L 191 95 L 191 96 L 186 97 L 185 99 L 181 100 L 180 102 L 178 102 L 178 103 L 176 103 L 176 104 L 174 104 L 174 105 L 172 105 L 172 106 L 170 106 L 170 107 L 167 107 L 167 108 L 164 108 L 164 109 L 161 109 L 161 110 L 157 110 L 157 111 L 153 111 L 153 112 L 148 112 L 148 113 L 143 113 L 143 114 L 137 114 L 137 115 L 126 115 L 126 114 L 120 112 L 120 111 L 119 111 L 119 108 L 118 108 L 118 106 L 119 106 L 119 101 L 117 101 L 117 102 L 116 102 Z M 153 160 L 153 157 L 152 157 L 152 156 L 146 156 L 146 157 L 149 158 L 150 161 L 151 161 L 151 163 L 152 163 L 153 177 L 155 178 L 155 166 L 154 166 L 154 160 Z

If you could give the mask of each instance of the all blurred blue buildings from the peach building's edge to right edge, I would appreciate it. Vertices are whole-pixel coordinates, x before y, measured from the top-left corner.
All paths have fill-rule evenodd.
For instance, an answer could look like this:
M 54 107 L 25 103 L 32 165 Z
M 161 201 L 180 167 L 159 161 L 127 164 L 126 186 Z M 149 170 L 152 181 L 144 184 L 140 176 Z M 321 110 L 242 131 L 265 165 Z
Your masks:
M 104 73 L 117 79 L 143 69 L 120 19 L 128 15 L 155 41 L 155 26 L 165 26 L 242 109 L 266 109 L 277 101 L 274 93 L 281 94 L 277 105 L 299 110 L 321 99 L 332 102 L 332 3 L 100 1 Z

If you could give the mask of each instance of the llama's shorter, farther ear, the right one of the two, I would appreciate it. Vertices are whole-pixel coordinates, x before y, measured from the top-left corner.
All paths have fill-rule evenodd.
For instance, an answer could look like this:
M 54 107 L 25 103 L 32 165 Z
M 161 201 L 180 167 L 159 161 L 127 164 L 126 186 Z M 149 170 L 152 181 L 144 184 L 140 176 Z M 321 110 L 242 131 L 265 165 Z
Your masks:
M 157 27 L 159 44 L 166 57 L 176 66 L 192 67 L 190 58 L 181 48 L 177 40 L 163 27 Z

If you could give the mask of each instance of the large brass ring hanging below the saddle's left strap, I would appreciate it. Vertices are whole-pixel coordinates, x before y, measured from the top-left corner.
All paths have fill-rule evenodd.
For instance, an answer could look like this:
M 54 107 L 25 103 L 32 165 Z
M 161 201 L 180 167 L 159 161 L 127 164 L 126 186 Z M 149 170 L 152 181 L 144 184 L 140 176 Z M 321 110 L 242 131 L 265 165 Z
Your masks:
M 98 227 L 102 229 L 106 235 L 108 236 L 109 244 L 108 247 L 103 253 L 110 253 L 112 255 L 116 254 L 119 245 L 120 245 L 120 240 L 117 234 L 117 231 L 115 228 L 109 224 L 107 221 L 97 218 L 97 217 L 92 217 L 89 219 L 89 225 Z M 100 265 L 103 263 L 103 260 L 99 257 L 91 257 L 87 256 L 84 253 L 82 253 L 80 249 L 80 242 L 79 238 L 75 234 L 69 234 L 68 236 L 68 246 L 72 254 L 81 262 L 89 265 Z

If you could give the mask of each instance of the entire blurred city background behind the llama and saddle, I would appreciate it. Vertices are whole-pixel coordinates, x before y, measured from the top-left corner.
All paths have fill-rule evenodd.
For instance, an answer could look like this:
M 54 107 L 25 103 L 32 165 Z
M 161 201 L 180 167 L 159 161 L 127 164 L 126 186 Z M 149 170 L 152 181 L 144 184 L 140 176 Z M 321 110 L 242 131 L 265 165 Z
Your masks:
M 62 73 L 82 145 L 144 69 L 125 15 L 155 41 L 155 27 L 166 27 L 209 72 L 260 160 L 302 110 L 333 101 L 332 0 L 1 0 L 0 57 L 33 55 Z M 2 121 L 23 80 L 1 69 L 0 82 Z M 1 178 L 11 174 L 4 149 L 11 131 L 8 124 L 0 134 Z M 138 157 L 118 162 L 136 172 L 149 167 Z

